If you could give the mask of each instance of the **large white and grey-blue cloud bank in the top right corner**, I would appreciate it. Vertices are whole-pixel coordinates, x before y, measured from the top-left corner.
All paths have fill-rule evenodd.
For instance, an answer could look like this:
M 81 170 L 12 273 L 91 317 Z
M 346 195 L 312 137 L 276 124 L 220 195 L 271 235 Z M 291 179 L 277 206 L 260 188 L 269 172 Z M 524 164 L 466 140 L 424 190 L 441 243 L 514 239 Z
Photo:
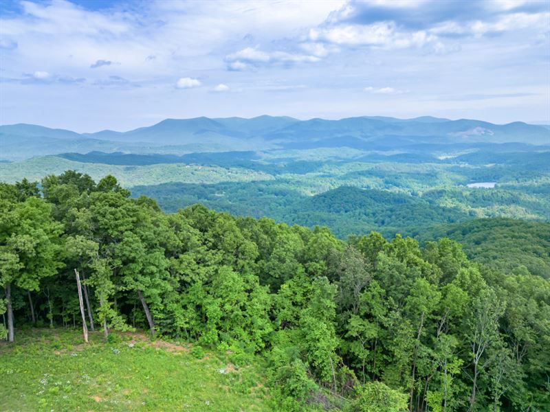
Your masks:
M 456 52 L 447 45 L 458 36 L 478 38 L 514 30 L 549 32 L 550 13 L 533 1 L 349 1 L 311 27 L 309 40 L 340 46 L 386 49 L 429 48 Z

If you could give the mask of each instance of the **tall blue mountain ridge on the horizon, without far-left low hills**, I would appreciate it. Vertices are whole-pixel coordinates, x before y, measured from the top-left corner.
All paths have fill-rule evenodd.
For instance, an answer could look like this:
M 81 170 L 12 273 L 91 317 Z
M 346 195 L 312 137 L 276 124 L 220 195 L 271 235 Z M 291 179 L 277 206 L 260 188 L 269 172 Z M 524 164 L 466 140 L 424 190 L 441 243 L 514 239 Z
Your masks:
M 338 137 L 350 137 L 372 141 L 391 136 L 415 137 L 416 141 L 485 141 L 492 143 L 521 142 L 527 144 L 550 144 L 547 128 L 514 122 L 504 125 L 480 120 L 449 120 L 436 117 L 395 119 L 393 117 L 349 117 L 340 120 L 309 119 L 292 117 L 260 116 L 252 119 L 229 117 L 209 119 L 166 119 L 144 128 L 126 133 L 109 133 L 104 130 L 89 137 L 124 142 L 148 142 L 174 145 L 192 144 L 197 141 L 231 143 L 233 139 L 270 141 L 273 144 L 319 141 Z M 313 145 L 314 146 L 314 145 Z M 333 147 L 322 144 L 320 147 Z

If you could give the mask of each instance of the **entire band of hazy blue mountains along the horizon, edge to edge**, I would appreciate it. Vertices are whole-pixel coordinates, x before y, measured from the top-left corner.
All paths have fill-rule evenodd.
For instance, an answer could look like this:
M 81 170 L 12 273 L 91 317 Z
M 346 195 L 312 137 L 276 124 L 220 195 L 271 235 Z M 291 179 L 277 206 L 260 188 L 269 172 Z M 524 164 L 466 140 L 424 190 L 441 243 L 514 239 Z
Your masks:
M 165 119 L 127 132 L 76 133 L 32 124 L 0 126 L 2 160 L 62 152 L 188 153 L 233 150 L 419 149 L 423 145 L 550 144 L 550 129 L 522 122 L 497 125 L 480 120 L 417 117 L 349 117 L 340 120 L 260 116 L 252 119 Z M 420 146 L 420 147 L 419 147 Z

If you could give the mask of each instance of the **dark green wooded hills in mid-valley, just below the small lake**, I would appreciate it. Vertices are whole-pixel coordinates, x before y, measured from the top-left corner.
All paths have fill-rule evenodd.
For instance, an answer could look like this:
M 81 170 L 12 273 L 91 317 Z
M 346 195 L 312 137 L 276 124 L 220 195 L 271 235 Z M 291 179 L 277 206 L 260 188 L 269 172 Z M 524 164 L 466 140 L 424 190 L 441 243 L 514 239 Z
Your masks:
M 483 217 L 550 218 L 550 192 L 544 191 L 542 185 L 532 194 L 468 187 L 432 189 L 419 194 L 365 187 L 369 186 L 341 185 L 333 190 L 327 188 L 326 192 L 315 196 L 306 196 L 304 187 L 277 179 L 215 185 L 167 183 L 135 186 L 132 192 L 135 196 L 143 194 L 155 198 L 168 212 L 200 202 L 210 209 L 237 216 L 268 216 L 289 225 L 327 226 L 343 239 L 350 234 L 372 230 L 380 231 L 386 238 L 395 233 L 411 236 L 433 225 Z

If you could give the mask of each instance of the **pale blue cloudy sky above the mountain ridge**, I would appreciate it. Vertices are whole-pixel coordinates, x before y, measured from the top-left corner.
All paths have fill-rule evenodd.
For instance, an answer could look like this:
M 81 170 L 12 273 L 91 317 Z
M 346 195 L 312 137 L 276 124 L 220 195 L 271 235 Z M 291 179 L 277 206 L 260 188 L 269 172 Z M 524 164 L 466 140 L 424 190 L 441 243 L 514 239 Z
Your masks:
M 550 123 L 550 0 L 0 1 L 0 124 Z

